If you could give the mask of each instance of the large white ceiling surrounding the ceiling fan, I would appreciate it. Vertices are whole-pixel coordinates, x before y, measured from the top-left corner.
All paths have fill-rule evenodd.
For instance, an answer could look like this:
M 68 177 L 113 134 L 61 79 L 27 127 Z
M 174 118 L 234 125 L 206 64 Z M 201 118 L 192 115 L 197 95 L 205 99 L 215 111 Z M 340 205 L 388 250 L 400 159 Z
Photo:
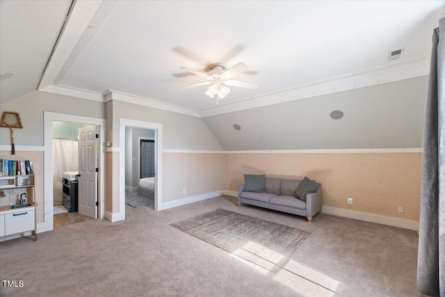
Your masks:
M 29 70 L 40 63 L 32 68 L 40 73 L 33 83 L 19 77 L 31 77 L 26 67 L 1 65 L 1 73 L 15 71 L 16 85 L 29 91 L 69 3 L 24 2 L 1 1 L 1 61 L 22 55 L 31 58 Z M 444 1 L 77 1 L 40 89 L 90 99 L 112 90 L 115 98 L 208 116 L 420 77 L 443 8 Z M 32 56 L 20 51 L 24 40 Z M 389 62 L 388 52 L 402 47 L 403 58 Z M 206 86 L 179 90 L 204 81 L 179 67 L 218 62 L 249 65 L 234 79 L 259 88 L 232 87 L 217 107 Z M 2 82 L 1 102 L 13 99 L 6 86 L 13 79 Z

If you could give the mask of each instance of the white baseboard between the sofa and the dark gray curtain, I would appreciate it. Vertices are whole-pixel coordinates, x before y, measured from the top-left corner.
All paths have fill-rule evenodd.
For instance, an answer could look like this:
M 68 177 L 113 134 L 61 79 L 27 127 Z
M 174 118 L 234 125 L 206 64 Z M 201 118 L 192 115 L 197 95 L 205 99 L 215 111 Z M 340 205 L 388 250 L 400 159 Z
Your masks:
M 393 227 L 416 230 L 419 233 L 419 223 L 415 220 L 406 220 L 405 218 L 394 218 L 391 216 L 382 216 L 380 214 L 369 214 L 362 211 L 352 211 L 348 209 L 339 209 L 337 207 L 322 206 L 323 214 L 332 214 L 334 216 L 343 216 L 345 218 L 355 218 L 356 220 L 364 220 L 366 222 L 378 223 Z

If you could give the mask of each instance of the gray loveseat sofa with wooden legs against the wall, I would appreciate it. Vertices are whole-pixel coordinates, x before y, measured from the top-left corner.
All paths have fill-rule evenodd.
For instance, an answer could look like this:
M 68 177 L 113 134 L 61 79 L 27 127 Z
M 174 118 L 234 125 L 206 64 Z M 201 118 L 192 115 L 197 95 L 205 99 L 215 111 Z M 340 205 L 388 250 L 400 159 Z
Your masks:
M 303 179 L 305 185 L 307 184 L 306 179 L 307 177 Z M 250 191 L 245 191 L 245 186 L 248 183 L 248 178 L 245 175 L 246 184 L 238 186 L 238 207 L 241 206 L 241 203 L 245 203 L 305 216 L 310 224 L 312 223 L 312 217 L 321 211 L 322 186 L 310 179 L 308 180 L 312 182 L 312 186 L 309 186 L 309 191 L 314 191 L 316 188 L 314 193 L 305 194 L 306 192 L 302 191 L 302 188 L 298 188 L 302 182 L 301 180 L 272 177 L 264 177 L 264 189 L 261 189 L 261 186 L 254 186 L 252 189 L 252 186 L 250 186 L 248 188 Z M 297 192 L 303 193 L 302 195 L 305 195 L 305 197 L 297 198 Z

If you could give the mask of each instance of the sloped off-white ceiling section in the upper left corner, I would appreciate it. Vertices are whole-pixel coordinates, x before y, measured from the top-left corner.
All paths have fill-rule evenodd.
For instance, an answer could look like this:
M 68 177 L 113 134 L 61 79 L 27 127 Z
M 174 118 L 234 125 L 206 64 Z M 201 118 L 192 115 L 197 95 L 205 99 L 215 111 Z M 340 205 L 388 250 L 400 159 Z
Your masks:
M 36 90 L 72 1 L 0 1 L 0 103 Z

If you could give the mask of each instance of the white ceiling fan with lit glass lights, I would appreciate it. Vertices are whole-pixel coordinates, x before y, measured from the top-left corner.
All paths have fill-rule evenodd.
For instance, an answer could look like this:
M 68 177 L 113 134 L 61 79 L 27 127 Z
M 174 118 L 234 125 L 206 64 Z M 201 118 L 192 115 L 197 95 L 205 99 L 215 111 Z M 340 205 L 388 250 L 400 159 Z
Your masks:
M 207 81 L 204 81 L 202 83 L 195 83 L 191 86 L 185 86 L 180 89 L 211 85 L 211 86 L 209 86 L 209 89 L 207 90 L 206 94 L 209 95 L 210 97 L 212 97 L 213 99 L 216 99 L 216 104 L 218 104 L 218 99 L 222 99 L 227 94 L 229 94 L 230 89 L 227 88 L 227 86 L 250 88 L 252 90 L 258 88 L 257 83 L 248 83 L 245 81 L 234 81 L 233 79 L 231 79 L 236 74 L 239 74 L 239 73 L 249 69 L 248 65 L 245 65 L 244 63 L 238 63 L 238 64 L 234 65 L 234 67 L 229 68 L 227 70 L 225 69 L 225 67 L 223 65 L 220 65 L 220 64 L 210 65 L 209 68 L 210 68 L 209 72 L 204 73 L 204 72 L 190 69 L 188 67 L 181 67 L 182 70 L 199 75 L 200 77 L 204 77 L 205 79 L 207 79 Z

